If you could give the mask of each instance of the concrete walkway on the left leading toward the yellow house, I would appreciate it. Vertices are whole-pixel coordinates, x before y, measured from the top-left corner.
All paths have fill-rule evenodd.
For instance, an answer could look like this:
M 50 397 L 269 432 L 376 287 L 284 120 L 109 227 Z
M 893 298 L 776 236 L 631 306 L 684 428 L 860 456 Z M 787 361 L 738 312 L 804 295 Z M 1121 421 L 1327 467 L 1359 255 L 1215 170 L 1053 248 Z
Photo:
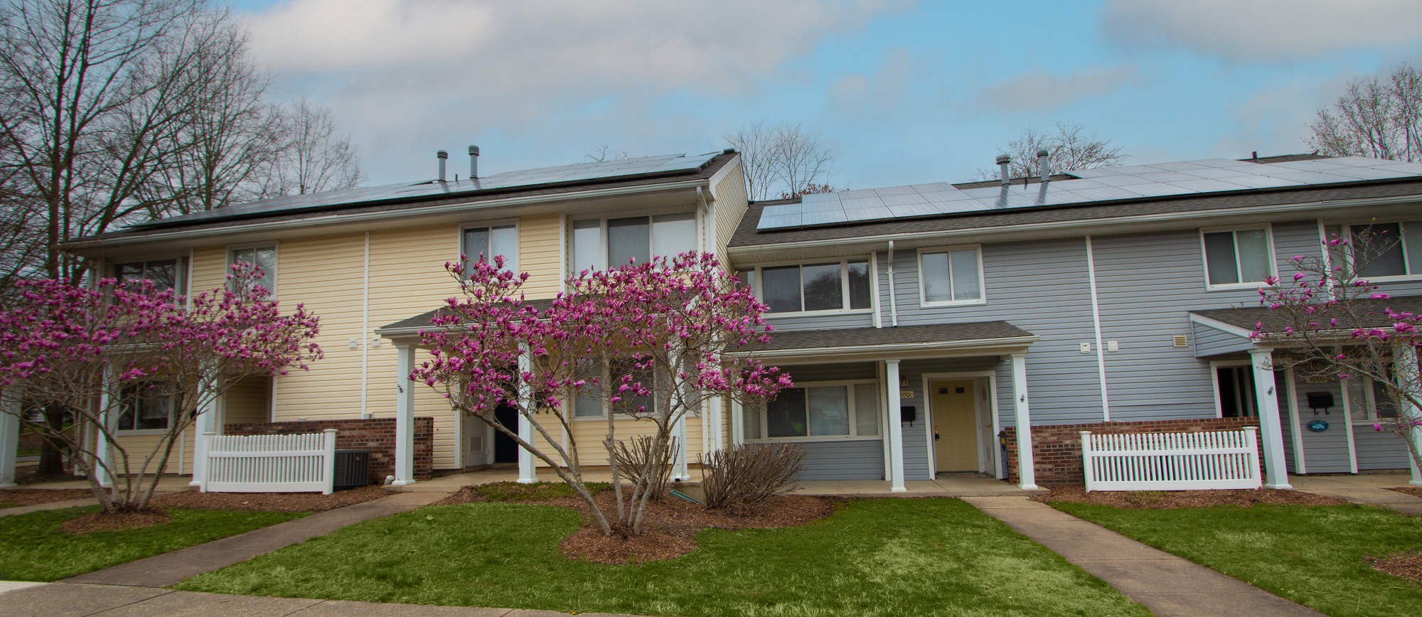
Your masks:
M 67 583 L 168 587 L 183 579 L 246 562 L 259 554 L 301 543 L 316 536 L 324 536 L 363 520 L 412 510 L 438 502 L 445 496 L 447 493 L 395 493 L 374 502 L 357 503 L 354 506 L 316 513 L 304 519 L 287 520 L 206 544 L 189 546 L 171 553 L 139 559 L 138 562 L 121 563 L 114 567 L 67 579 Z

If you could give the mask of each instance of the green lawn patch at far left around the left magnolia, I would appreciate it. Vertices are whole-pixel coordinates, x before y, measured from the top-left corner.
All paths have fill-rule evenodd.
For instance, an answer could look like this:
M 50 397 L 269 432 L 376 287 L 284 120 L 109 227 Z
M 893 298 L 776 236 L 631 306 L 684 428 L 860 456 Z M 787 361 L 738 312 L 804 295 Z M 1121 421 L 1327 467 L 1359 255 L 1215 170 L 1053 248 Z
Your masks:
M 0 517 L 0 580 L 60 580 L 185 546 L 202 544 L 307 516 L 304 512 L 168 510 L 173 522 L 125 532 L 74 536 L 60 523 L 98 506 Z

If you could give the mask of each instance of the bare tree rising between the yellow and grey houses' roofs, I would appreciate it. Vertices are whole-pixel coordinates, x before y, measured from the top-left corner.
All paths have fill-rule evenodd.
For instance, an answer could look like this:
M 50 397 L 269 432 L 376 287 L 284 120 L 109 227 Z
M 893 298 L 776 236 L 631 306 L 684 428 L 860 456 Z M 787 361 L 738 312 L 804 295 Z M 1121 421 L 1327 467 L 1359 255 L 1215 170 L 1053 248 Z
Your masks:
M 741 152 L 741 171 L 752 200 L 791 199 L 829 188 L 838 158 L 819 135 L 799 124 L 748 122 L 722 138 Z

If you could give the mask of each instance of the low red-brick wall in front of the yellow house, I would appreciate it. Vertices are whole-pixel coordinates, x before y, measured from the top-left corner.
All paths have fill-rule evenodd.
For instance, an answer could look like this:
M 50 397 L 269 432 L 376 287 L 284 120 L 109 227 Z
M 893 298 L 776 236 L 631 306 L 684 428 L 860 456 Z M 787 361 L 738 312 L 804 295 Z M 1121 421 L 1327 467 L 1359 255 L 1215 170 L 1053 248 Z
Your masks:
M 395 418 L 229 424 L 228 435 L 296 435 L 336 429 L 336 449 L 368 449 L 370 481 L 395 475 Z M 434 478 L 434 418 L 415 418 L 415 479 Z

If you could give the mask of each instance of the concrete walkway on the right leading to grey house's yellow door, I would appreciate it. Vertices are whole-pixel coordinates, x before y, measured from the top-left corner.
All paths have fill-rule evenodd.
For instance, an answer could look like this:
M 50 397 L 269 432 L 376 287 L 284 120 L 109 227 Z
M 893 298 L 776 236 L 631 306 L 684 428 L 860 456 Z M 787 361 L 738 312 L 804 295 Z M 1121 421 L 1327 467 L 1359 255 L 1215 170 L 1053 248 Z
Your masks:
M 1160 617 L 1320 617 L 1197 563 L 1027 498 L 964 498 Z

